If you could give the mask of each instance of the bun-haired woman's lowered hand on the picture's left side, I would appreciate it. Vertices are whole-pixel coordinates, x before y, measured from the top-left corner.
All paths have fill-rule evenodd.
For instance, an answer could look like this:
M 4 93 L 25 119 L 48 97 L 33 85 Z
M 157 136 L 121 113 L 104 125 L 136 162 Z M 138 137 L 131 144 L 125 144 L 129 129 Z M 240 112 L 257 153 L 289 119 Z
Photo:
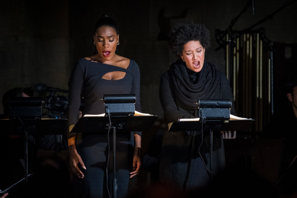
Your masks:
M 70 163 L 70 168 L 72 172 L 78 176 L 79 178 L 84 178 L 85 175 L 83 175 L 83 172 L 80 171 L 78 167 L 78 163 L 83 169 L 86 169 L 85 164 L 83 163 L 83 160 L 81 159 L 80 155 L 78 154 L 75 145 L 69 145 L 69 163 Z

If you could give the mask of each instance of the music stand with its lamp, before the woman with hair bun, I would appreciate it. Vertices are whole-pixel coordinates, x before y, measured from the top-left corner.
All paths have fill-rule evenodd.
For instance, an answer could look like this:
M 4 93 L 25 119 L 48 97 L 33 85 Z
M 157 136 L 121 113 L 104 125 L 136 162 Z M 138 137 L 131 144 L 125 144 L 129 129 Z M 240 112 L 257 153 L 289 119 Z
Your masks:
M 146 131 L 158 116 L 134 115 L 135 94 L 109 94 L 104 95 L 103 99 L 105 115 L 79 118 L 71 133 L 107 133 L 113 129 L 113 198 L 116 198 L 116 129 L 121 133 Z

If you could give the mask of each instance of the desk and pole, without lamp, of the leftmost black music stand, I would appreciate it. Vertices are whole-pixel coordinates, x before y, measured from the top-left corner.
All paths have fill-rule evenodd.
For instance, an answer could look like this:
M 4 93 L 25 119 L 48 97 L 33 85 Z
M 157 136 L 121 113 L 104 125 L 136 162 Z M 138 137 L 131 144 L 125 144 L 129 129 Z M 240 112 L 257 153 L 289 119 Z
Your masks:
M 62 135 L 66 134 L 67 119 L 0 119 L 0 126 L 4 127 L 1 135 L 25 136 L 25 184 L 28 183 L 28 135 Z

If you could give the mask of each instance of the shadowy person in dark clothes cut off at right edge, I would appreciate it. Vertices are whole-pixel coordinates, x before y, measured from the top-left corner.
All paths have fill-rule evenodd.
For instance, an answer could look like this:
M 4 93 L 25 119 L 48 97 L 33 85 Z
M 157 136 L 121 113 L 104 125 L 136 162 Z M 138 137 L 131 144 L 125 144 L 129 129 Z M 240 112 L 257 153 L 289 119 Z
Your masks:
M 285 149 L 280 167 L 277 187 L 286 196 L 297 194 L 297 75 L 288 77 L 286 95 L 289 109 L 275 117 L 263 129 L 263 139 L 284 139 Z M 284 105 L 285 106 L 285 105 Z

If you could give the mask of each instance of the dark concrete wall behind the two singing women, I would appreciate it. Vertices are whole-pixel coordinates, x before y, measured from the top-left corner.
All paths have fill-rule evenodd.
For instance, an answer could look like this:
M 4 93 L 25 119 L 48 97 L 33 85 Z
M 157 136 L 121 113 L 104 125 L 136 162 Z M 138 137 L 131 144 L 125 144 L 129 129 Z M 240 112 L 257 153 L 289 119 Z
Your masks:
M 225 72 L 225 51 L 223 48 L 216 50 L 219 44 L 215 40 L 215 30 L 227 29 L 231 20 L 246 5 L 247 1 L 234 0 L 54 0 L 44 5 L 40 5 L 39 1 L 2 1 L 0 95 L 10 88 L 28 87 L 36 83 L 68 89 L 67 83 L 75 61 L 95 52 L 94 23 L 101 14 L 108 13 L 119 24 L 120 45 L 117 53 L 139 64 L 143 112 L 162 119 L 159 77 L 176 58 L 170 52 L 167 41 L 158 38 L 159 34 L 178 22 L 193 20 L 204 23 L 210 30 L 212 42 L 206 52 L 206 60 Z M 248 6 L 234 23 L 233 30 L 241 31 L 267 19 L 253 29 L 265 28 L 268 39 L 285 46 L 286 50 L 281 50 L 282 54 L 275 56 L 287 59 L 296 56 L 296 51 L 292 51 L 290 45 L 297 41 L 297 2 L 293 1 L 280 9 L 282 5 L 283 2 L 278 0 L 255 0 L 255 15 L 252 15 L 252 7 Z M 158 15 L 162 16 L 159 22 Z

